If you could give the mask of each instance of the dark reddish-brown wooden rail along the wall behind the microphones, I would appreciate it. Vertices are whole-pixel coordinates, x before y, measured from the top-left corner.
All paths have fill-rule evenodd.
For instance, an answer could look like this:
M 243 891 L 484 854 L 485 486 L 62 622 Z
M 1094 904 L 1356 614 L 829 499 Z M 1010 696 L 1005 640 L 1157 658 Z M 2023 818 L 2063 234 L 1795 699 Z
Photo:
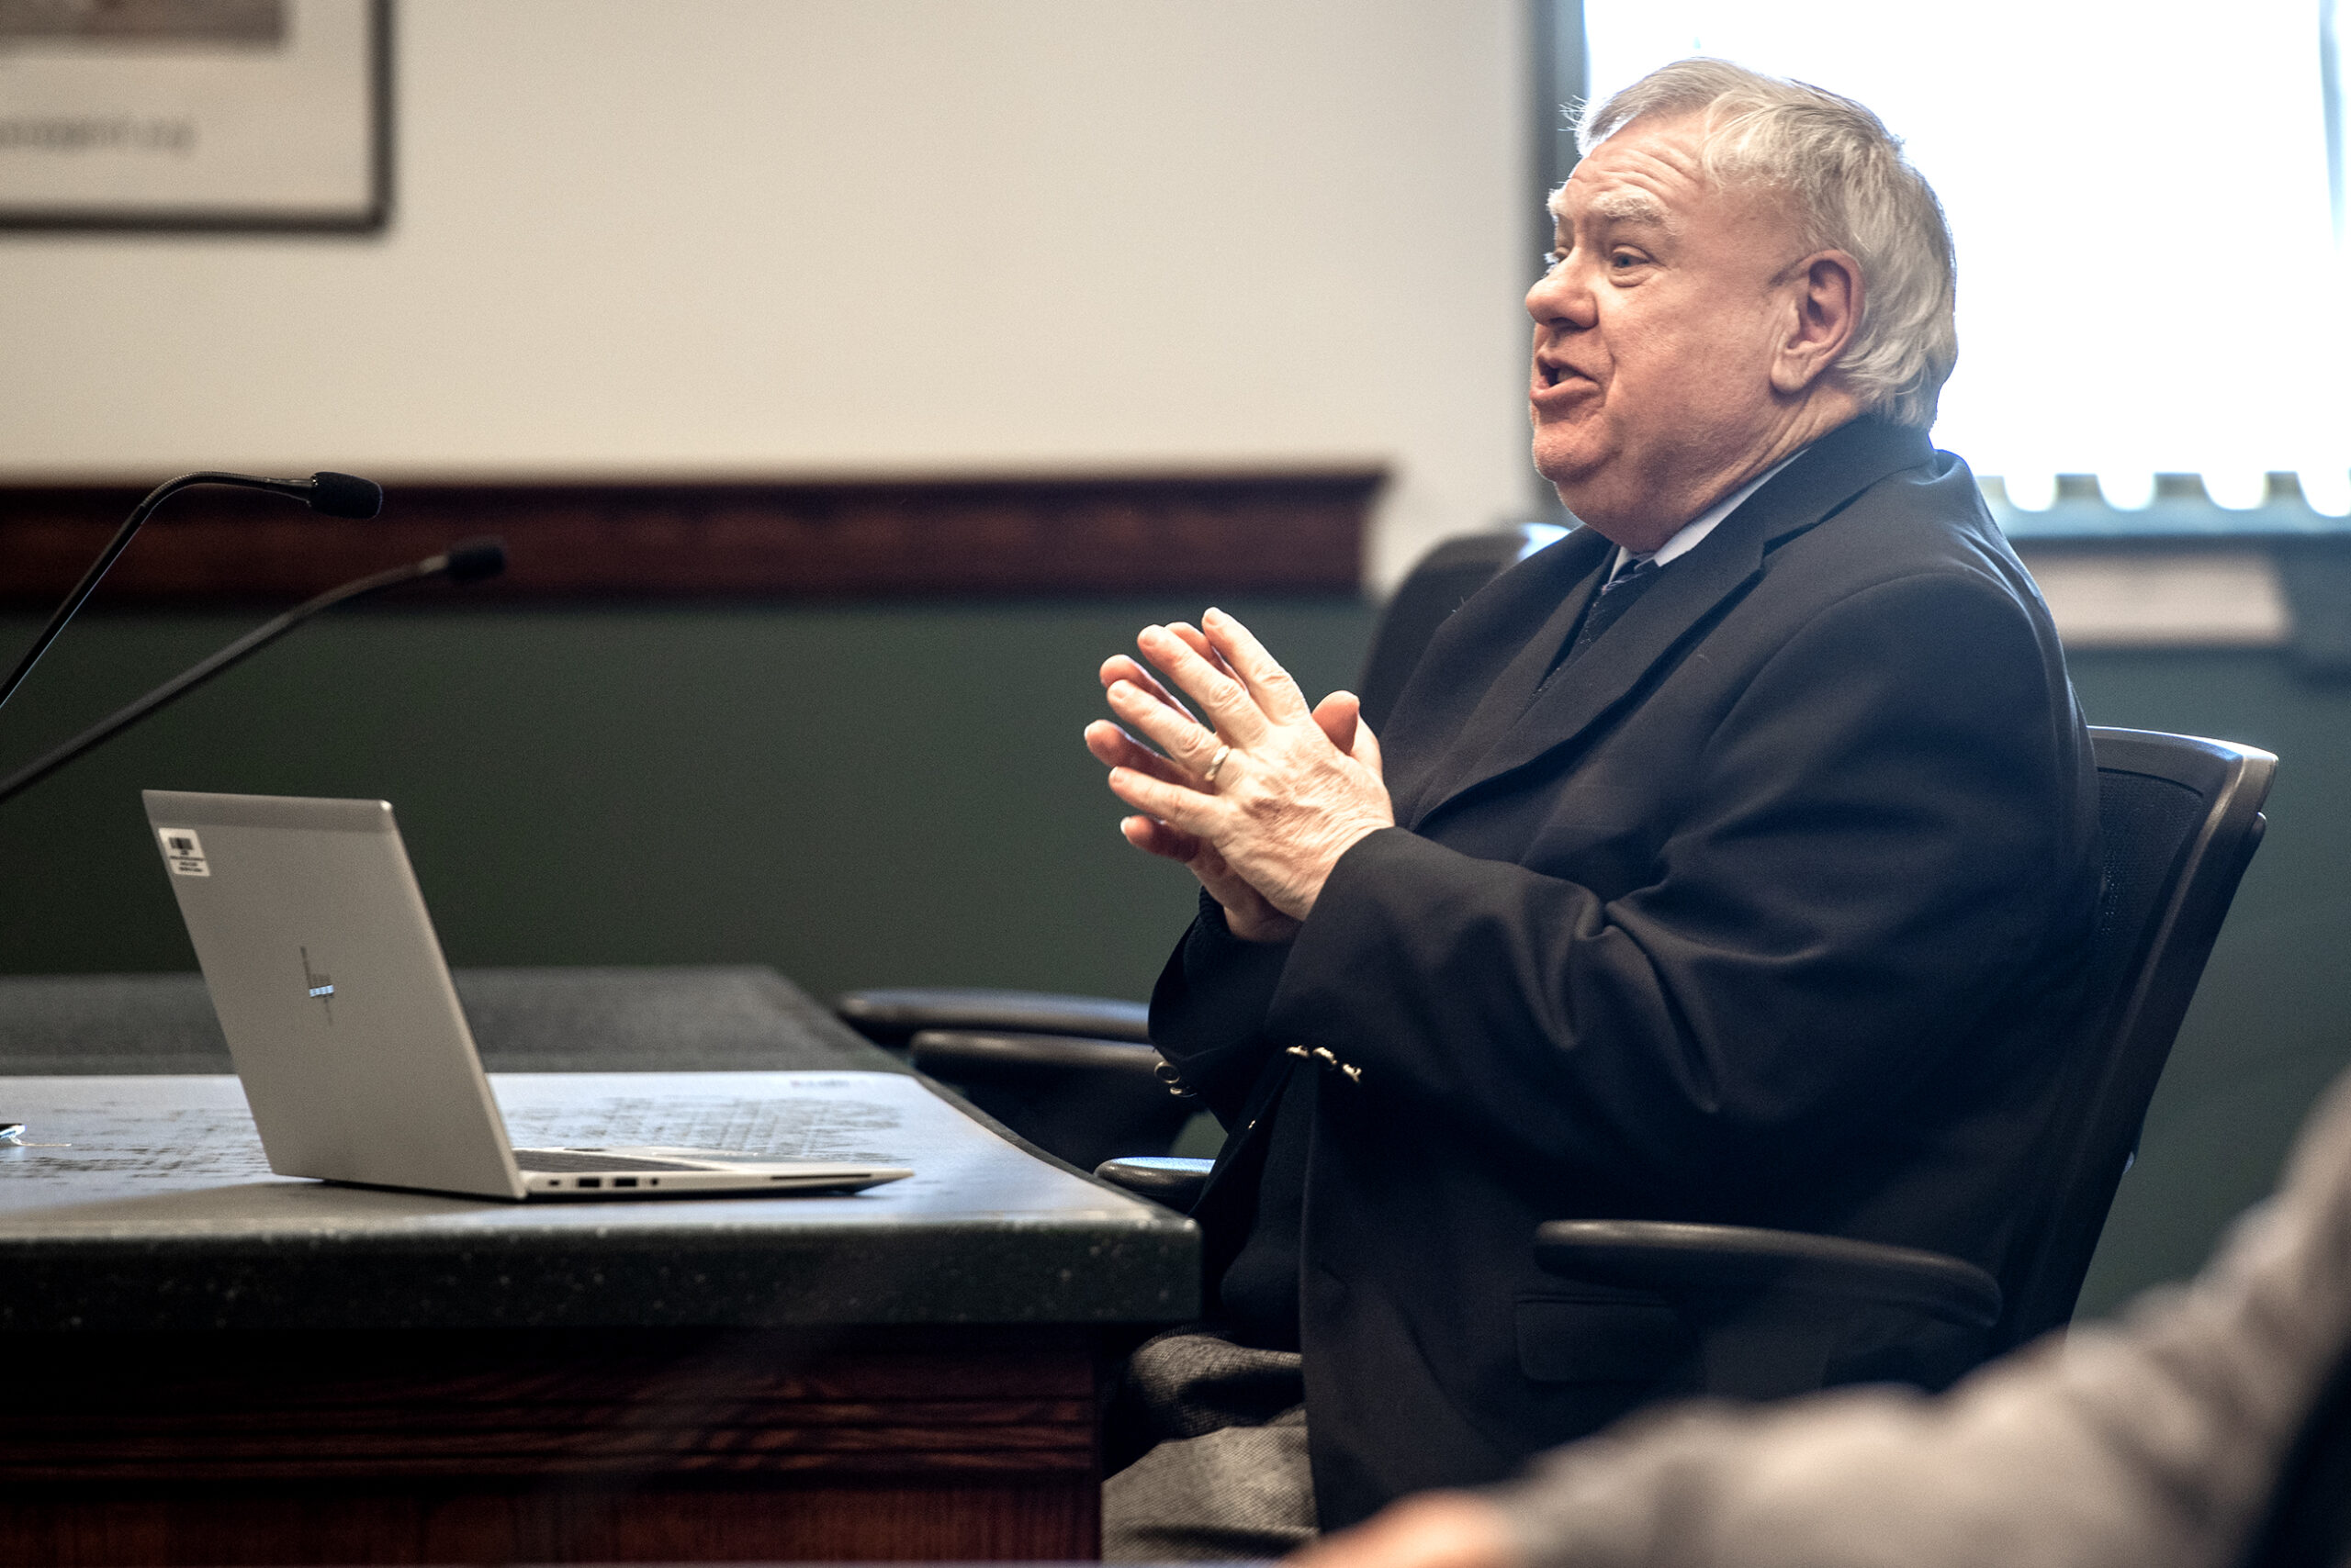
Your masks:
M 534 599 L 1354 592 L 1378 470 L 832 484 L 390 484 L 371 522 L 240 489 L 167 501 L 101 599 L 292 599 L 475 534 Z M 66 592 L 139 501 L 0 487 L 0 595 Z

